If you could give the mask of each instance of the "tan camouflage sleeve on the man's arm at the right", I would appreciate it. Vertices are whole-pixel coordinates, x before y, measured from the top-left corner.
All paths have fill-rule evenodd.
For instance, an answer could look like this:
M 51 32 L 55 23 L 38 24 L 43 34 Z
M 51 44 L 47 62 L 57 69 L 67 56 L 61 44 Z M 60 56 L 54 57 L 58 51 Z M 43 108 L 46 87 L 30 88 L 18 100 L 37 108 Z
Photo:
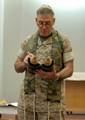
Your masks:
M 63 46 L 64 46 L 64 53 L 63 53 L 64 63 L 73 60 L 74 56 L 73 56 L 71 42 L 67 37 L 64 38 Z

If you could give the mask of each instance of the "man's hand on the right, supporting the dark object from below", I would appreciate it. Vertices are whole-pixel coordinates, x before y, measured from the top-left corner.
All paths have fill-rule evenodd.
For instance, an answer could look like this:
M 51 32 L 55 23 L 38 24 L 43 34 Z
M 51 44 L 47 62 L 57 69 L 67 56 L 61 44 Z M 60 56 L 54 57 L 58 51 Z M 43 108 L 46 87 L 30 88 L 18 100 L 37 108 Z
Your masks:
M 39 76 L 42 79 L 46 79 L 46 80 L 54 80 L 54 79 L 59 79 L 59 74 L 57 74 L 56 72 L 52 71 L 52 72 L 45 72 L 43 70 L 38 70 L 36 72 L 36 75 Z

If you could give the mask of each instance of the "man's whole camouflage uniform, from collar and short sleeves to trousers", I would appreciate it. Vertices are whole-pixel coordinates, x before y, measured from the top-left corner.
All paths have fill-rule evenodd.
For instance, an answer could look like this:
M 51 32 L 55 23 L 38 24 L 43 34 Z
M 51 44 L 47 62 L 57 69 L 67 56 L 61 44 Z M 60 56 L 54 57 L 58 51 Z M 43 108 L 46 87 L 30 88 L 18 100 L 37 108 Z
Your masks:
M 38 33 L 33 34 L 22 44 L 19 57 L 29 51 L 42 64 L 50 56 L 54 60 L 54 70 L 59 72 L 64 67 L 64 62 L 73 59 L 70 42 L 55 30 L 52 36 L 44 39 Z M 63 85 L 61 79 L 44 80 L 27 70 L 19 98 L 19 120 L 64 120 Z

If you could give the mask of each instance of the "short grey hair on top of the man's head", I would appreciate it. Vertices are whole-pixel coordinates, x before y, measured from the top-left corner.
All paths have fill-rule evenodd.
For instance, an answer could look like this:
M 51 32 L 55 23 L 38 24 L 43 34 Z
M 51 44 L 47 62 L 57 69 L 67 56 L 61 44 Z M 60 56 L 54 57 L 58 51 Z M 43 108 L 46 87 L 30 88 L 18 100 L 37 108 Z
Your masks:
M 51 14 L 52 16 L 54 16 L 54 11 L 51 8 L 51 6 L 49 5 L 42 5 L 38 10 L 37 10 L 37 15 L 47 15 L 47 14 Z

